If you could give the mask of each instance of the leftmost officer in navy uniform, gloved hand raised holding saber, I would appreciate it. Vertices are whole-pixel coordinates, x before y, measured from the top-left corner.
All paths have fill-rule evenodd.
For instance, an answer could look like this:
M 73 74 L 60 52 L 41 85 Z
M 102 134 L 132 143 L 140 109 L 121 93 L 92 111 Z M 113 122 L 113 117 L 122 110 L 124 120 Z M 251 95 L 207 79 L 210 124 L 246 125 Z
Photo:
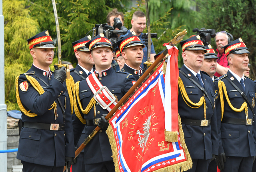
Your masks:
M 16 98 L 22 111 L 17 159 L 23 172 L 62 172 L 74 154 L 74 137 L 65 67 L 49 68 L 54 42 L 47 30 L 28 39 L 32 67 L 16 78 Z

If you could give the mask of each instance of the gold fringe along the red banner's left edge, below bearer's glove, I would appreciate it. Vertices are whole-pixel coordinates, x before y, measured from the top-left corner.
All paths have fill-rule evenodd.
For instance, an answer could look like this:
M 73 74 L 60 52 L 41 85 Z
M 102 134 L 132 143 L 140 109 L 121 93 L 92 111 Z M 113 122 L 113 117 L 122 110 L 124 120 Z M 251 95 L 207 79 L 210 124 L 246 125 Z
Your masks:
M 116 140 L 114 137 L 114 131 L 111 125 L 108 125 L 108 129 L 106 130 L 106 133 L 108 135 L 108 139 L 110 142 L 110 146 L 112 149 L 112 158 L 115 163 L 115 172 L 120 172 L 118 167 L 118 153 L 117 153 L 117 146 L 116 146 Z

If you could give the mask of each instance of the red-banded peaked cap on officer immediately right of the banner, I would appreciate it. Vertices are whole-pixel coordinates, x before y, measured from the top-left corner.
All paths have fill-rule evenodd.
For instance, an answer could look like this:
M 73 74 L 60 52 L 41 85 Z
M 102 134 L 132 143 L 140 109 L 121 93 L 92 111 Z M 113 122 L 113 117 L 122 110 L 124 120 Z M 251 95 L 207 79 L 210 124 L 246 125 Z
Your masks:
M 207 50 L 204 48 L 204 43 L 202 42 L 199 35 L 181 41 L 180 45 L 182 47 L 183 52 L 185 50 L 204 50 L 204 53 L 207 52 Z

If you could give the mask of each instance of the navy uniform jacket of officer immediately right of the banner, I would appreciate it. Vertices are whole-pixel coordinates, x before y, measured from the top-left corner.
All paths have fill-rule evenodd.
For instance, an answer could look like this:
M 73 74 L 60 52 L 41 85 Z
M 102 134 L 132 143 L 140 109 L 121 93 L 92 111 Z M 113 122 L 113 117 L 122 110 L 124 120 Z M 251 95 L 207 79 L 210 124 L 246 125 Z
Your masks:
M 186 66 L 183 65 L 181 70 L 185 74 L 190 76 L 190 78 L 195 80 L 198 84 L 200 84 L 196 76 L 194 76 L 194 74 L 192 74 L 192 72 L 190 72 L 190 70 L 188 70 Z M 202 72 L 200 73 L 201 78 L 204 81 L 204 89 L 206 90 L 208 96 L 214 104 L 214 84 L 212 82 L 212 78 Z M 192 81 L 186 78 L 186 76 L 184 76 L 183 74 L 180 73 L 179 76 L 182 79 L 189 99 L 194 103 L 198 103 L 200 98 L 204 96 L 202 90 L 200 90 Z M 210 125 L 202 127 L 182 124 L 182 128 L 185 136 L 185 142 L 191 158 L 206 158 L 207 160 L 212 158 L 212 154 L 218 155 L 218 130 L 215 109 L 212 109 L 212 105 L 209 99 L 206 96 L 204 96 L 204 98 L 206 101 L 206 120 L 211 119 Z M 181 118 L 191 120 L 204 120 L 204 104 L 202 104 L 200 108 L 190 108 L 186 104 L 186 102 L 184 102 L 180 92 L 180 88 L 178 93 L 178 112 Z

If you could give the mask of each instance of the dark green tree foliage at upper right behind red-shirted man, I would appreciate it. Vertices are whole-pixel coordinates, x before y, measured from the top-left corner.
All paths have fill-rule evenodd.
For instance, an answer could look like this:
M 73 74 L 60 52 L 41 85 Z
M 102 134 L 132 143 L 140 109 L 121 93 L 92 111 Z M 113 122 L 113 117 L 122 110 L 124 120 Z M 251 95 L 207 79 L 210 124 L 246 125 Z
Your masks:
M 234 36 L 234 40 L 241 37 L 251 52 L 250 64 L 255 69 L 256 0 L 198 0 L 198 3 L 205 28 L 215 29 L 216 32 L 226 30 Z M 252 73 L 255 79 L 255 72 Z

